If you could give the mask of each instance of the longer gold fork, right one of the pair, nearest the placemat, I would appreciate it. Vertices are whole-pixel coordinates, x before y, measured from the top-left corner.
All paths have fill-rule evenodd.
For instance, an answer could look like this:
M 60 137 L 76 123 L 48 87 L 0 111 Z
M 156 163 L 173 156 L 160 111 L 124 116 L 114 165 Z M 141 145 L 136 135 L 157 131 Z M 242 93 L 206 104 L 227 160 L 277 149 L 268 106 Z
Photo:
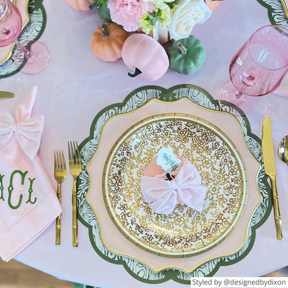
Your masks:
M 80 174 L 81 167 L 81 158 L 78 148 L 78 143 L 75 141 L 68 142 L 68 152 L 69 152 L 69 170 L 70 174 L 73 177 L 73 194 L 72 194 L 72 208 L 73 208 L 73 247 L 78 247 L 78 223 L 77 223 L 77 188 L 76 188 L 76 179 Z

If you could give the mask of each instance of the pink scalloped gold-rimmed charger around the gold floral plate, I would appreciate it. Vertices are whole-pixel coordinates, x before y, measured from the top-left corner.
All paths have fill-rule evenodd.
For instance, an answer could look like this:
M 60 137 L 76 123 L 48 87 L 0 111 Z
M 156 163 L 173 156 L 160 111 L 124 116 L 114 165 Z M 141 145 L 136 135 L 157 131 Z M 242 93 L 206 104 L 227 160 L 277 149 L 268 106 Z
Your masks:
M 133 243 L 130 239 L 127 239 L 128 235 L 121 233 L 118 227 L 114 224 L 114 221 L 111 220 L 108 212 L 109 209 L 107 210 L 107 205 L 105 205 L 102 194 L 102 174 L 105 165 L 108 165 L 107 159 L 112 147 L 114 147 L 116 141 L 132 126 L 136 125 L 136 123 L 139 123 L 148 117 L 154 117 L 159 114 L 187 114 L 188 111 L 189 115 L 203 119 L 204 124 L 206 123 L 209 128 L 218 127 L 221 129 L 222 132 L 217 134 L 217 137 L 220 140 L 221 137 L 223 138 L 223 134 L 226 135 L 227 138 L 224 137 L 226 142 L 225 145 L 229 145 L 230 141 L 228 139 L 231 140 L 231 143 L 235 143 L 238 153 L 234 153 L 233 148 L 231 148 L 230 153 L 231 151 L 232 154 L 234 153 L 233 161 L 238 161 L 237 165 L 241 166 L 241 163 L 244 163 L 243 166 L 246 169 L 246 181 L 249 192 L 246 195 L 246 205 L 244 206 L 243 211 L 239 212 L 240 210 L 238 210 L 238 213 L 235 213 L 235 215 L 239 216 L 239 219 L 236 219 L 237 216 L 235 216 L 234 219 L 235 224 L 237 225 L 235 225 L 234 228 L 231 228 L 231 233 L 228 233 L 222 242 L 218 241 L 217 244 L 212 247 L 212 249 L 204 248 L 203 253 L 197 253 L 197 255 L 188 255 L 190 253 L 189 252 L 187 255 L 183 254 L 181 258 L 172 257 L 173 255 L 163 257 L 162 254 L 160 255 L 160 252 L 158 254 L 151 253 L 150 247 L 150 251 L 145 250 L 143 246 L 141 247 L 142 249 L 140 249 L 138 245 L 141 243 L 136 243 L 137 241 Z M 260 166 L 251 155 L 249 149 L 246 147 L 241 126 L 233 116 L 222 111 L 211 111 L 209 109 L 204 109 L 203 107 L 195 105 L 194 102 L 186 98 L 173 102 L 151 100 L 146 105 L 141 107 L 141 109 L 134 110 L 127 114 L 120 114 L 115 117 L 111 117 L 109 121 L 105 123 L 100 137 L 100 143 L 97 150 L 91 161 L 87 164 L 90 186 L 86 198 L 97 217 L 101 239 L 107 249 L 115 254 L 125 255 L 129 258 L 134 258 L 139 262 L 143 262 L 153 271 L 161 271 L 163 269 L 178 269 L 188 273 L 197 269 L 197 267 L 201 266 L 201 264 L 217 258 L 233 255 L 242 249 L 247 240 L 251 217 L 255 211 L 255 208 L 257 208 L 262 199 L 256 184 Z M 232 144 L 231 147 L 233 147 Z M 89 153 L 89 150 L 87 150 L 87 153 Z M 239 159 L 236 154 L 241 159 Z M 195 156 L 193 157 L 195 159 Z M 189 158 L 189 156 L 186 156 L 186 158 Z M 147 163 L 149 163 L 148 159 Z M 198 168 L 201 171 L 201 167 L 199 166 Z M 138 175 L 140 177 L 142 173 L 138 173 L 140 173 Z M 241 173 L 242 175 L 245 174 L 243 171 Z M 243 181 L 245 181 L 245 177 L 243 178 Z M 240 201 L 242 204 L 245 203 L 244 198 L 245 197 L 242 197 L 242 202 Z M 190 221 L 190 218 L 187 219 L 187 221 Z M 213 241 L 211 243 L 213 244 Z

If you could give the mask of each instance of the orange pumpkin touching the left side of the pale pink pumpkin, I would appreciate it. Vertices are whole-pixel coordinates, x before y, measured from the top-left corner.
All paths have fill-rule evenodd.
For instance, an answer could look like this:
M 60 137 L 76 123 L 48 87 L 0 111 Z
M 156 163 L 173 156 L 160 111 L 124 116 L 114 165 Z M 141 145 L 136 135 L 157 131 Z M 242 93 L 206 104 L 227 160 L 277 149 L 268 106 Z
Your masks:
M 103 61 L 116 61 L 121 57 L 127 33 L 117 24 L 106 24 L 96 28 L 91 36 L 93 53 Z

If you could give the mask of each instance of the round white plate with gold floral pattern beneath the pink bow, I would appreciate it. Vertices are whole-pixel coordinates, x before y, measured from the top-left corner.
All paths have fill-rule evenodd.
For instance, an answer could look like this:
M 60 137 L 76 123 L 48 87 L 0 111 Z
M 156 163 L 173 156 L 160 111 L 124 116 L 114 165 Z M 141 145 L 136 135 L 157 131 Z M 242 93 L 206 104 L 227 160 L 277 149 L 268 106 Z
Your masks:
M 162 147 L 190 161 L 207 188 L 201 213 L 178 204 L 170 215 L 152 212 L 141 177 Z M 103 197 L 112 221 L 137 246 L 168 257 L 203 253 L 222 242 L 240 219 L 247 183 L 241 156 L 219 128 L 201 118 L 163 114 L 121 136 L 107 157 Z

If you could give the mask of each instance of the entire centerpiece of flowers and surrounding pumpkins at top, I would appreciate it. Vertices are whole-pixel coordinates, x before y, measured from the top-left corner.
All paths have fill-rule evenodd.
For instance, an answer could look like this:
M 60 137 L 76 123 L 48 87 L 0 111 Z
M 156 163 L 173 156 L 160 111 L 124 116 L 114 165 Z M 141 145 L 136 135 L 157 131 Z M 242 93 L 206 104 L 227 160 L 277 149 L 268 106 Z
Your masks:
M 129 65 L 127 64 L 129 68 L 141 73 L 143 71 L 138 69 L 136 64 L 131 64 L 128 58 L 136 55 L 141 59 L 145 42 L 145 46 L 150 47 L 150 51 L 146 52 L 158 51 L 158 55 L 151 56 L 150 64 L 153 64 L 153 69 L 157 73 L 155 63 L 159 62 L 161 66 L 158 69 L 159 73 L 156 77 L 155 75 L 146 77 L 156 80 L 169 66 L 179 73 L 186 74 L 195 73 L 201 68 L 206 52 L 201 41 L 191 35 L 192 29 L 210 17 L 221 0 L 66 0 L 66 3 L 76 8 L 75 1 L 78 6 L 82 1 L 83 6 L 78 10 L 96 7 L 100 18 L 112 23 L 99 27 L 92 35 L 92 51 L 95 55 L 105 61 L 115 61 L 123 57 L 125 64 L 129 62 Z M 118 30 L 114 24 L 125 31 L 127 36 L 123 36 L 123 33 L 114 33 Z M 131 41 L 129 37 L 134 33 L 142 35 L 134 36 Z M 119 38 L 116 35 L 120 35 Z M 161 48 L 154 42 L 158 42 Z M 165 47 L 163 53 L 161 49 L 164 49 L 165 44 L 170 47 Z M 150 66 L 144 67 L 145 70 L 151 69 Z M 145 75 L 147 73 L 143 74 L 144 77 Z

